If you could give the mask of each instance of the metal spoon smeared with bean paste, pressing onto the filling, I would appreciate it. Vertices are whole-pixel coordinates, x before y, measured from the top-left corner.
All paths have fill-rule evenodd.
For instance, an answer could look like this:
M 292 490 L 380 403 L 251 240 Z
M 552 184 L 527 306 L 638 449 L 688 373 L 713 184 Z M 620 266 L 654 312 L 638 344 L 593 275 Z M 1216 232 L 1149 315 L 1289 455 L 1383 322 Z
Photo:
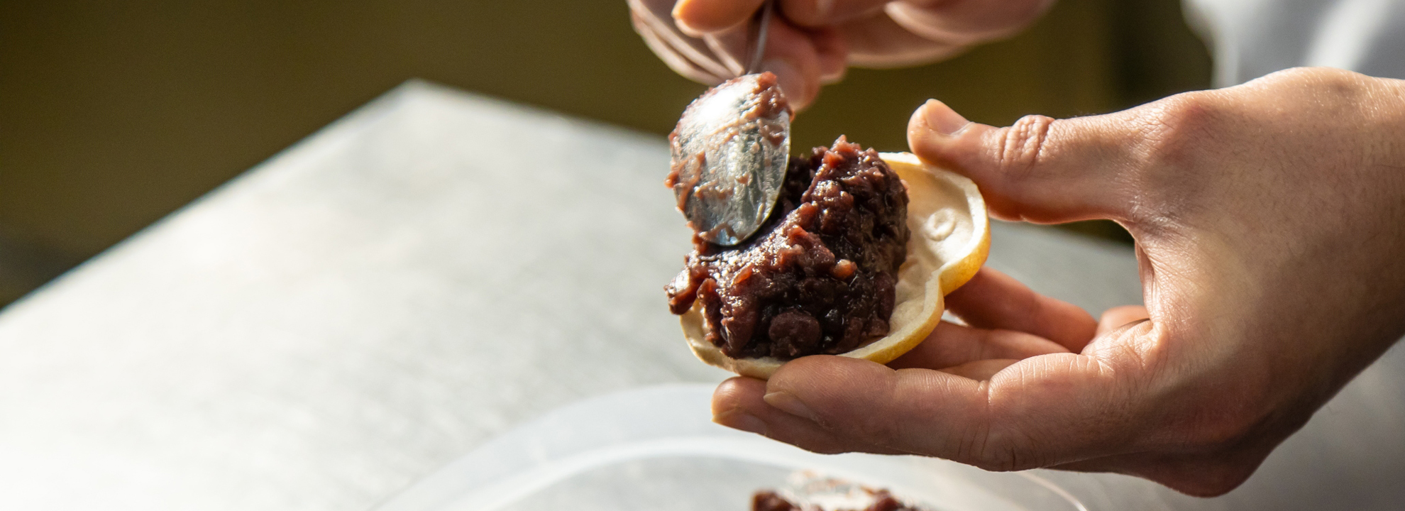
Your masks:
M 776 76 L 756 73 L 774 8 L 769 0 L 757 14 L 747 74 L 702 93 L 670 136 L 667 182 L 679 211 L 700 237 L 721 246 L 756 233 L 785 180 L 791 109 Z

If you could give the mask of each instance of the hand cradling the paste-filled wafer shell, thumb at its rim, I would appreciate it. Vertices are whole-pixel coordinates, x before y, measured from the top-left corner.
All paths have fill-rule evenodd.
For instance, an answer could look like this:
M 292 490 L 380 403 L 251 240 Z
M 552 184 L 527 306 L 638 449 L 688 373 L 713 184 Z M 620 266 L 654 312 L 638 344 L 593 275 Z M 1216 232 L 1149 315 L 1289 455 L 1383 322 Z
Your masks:
M 1402 80 L 1294 69 L 1010 128 L 929 101 L 908 139 L 998 218 L 1127 226 L 1145 309 L 1109 310 L 1094 334 L 1089 316 L 985 275 L 948 300 L 972 328 L 944 324 L 894 368 L 806 357 L 769 382 L 733 378 L 718 423 L 821 452 L 1217 496 L 1405 333 Z

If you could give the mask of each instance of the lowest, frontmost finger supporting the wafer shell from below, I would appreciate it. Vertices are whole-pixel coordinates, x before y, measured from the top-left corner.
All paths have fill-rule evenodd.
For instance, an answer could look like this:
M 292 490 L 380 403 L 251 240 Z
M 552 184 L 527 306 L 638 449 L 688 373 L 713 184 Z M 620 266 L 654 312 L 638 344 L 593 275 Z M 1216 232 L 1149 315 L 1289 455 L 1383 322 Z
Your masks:
M 745 410 L 766 435 L 823 452 L 920 453 L 992 470 L 1134 449 L 1131 423 L 1142 390 L 1128 385 L 1128 371 L 1073 354 L 950 371 L 805 357 L 785 364 L 764 389 L 756 382 L 719 392 L 714 407 Z

